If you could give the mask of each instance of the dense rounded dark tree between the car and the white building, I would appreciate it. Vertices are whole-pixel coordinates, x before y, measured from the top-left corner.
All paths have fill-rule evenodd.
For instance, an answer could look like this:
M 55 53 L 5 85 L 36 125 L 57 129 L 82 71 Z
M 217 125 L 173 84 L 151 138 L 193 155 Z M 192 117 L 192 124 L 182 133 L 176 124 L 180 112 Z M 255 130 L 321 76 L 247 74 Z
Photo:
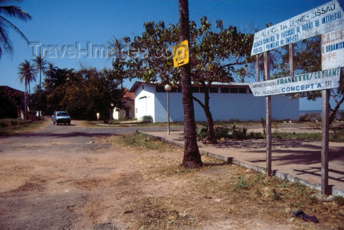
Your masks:
M 100 117 L 107 120 L 114 107 L 123 107 L 123 91 L 117 88 L 118 82 L 112 80 L 109 71 L 84 68 L 67 78 L 68 82 L 59 86 L 65 91 L 59 106 L 74 119 L 94 120 L 96 113 L 100 113 Z

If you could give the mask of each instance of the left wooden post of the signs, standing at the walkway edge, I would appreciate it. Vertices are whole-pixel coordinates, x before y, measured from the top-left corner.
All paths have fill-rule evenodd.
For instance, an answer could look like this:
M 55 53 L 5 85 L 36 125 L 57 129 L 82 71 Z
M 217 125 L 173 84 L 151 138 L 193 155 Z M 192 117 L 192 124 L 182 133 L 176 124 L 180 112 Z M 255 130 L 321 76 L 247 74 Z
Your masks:
M 264 80 L 270 80 L 270 57 L 268 51 L 264 52 Z M 266 176 L 272 175 L 272 132 L 271 132 L 271 96 L 265 96 L 265 120 L 266 120 Z

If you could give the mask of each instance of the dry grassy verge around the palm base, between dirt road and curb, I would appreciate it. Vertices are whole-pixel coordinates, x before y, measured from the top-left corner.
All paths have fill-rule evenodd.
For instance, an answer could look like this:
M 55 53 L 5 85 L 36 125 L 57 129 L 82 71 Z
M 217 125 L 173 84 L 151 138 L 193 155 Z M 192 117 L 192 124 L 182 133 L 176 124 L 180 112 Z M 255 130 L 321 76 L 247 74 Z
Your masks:
M 177 152 L 178 147 L 151 139 L 143 133 L 114 136 L 113 143 L 139 153 L 155 150 Z M 181 159 L 180 159 L 181 160 Z M 344 198 L 321 202 L 312 194 L 318 191 L 300 182 L 291 183 L 234 164 L 202 155 L 203 167 L 187 169 L 181 161 L 164 157 L 142 159 L 145 181 L 173 181 L 168 194 L 133 199 L 123 206 L 122 219 L 136 229 L 197 229 L 204 223 L 236 220 L 245 228 L 245 220 L 293 225 L 297 230 L 343 229 Z M 166 182 L 167 181 L 167 182 Z M 163 186 L 163 185 L 161 185 Z M 293 218 L 302 210 L 319 223 Z

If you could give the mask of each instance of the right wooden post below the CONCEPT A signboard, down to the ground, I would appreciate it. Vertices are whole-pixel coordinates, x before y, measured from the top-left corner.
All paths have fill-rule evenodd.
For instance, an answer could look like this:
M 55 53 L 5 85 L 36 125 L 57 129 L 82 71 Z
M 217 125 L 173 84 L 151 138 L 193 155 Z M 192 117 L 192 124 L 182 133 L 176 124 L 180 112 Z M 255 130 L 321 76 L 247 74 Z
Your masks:
M 322 115 L 321 115 L 321 194 L 329 195 L 328 187 L 328 140 L 329 140 L 329 107 L 330 89 L 321 91 Z

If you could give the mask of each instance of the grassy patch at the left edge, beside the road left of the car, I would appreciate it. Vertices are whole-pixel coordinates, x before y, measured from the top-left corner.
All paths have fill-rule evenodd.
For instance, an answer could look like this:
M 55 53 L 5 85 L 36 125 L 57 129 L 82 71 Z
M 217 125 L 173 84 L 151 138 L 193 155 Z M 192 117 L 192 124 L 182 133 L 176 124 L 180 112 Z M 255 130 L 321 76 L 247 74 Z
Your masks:
M 26 121 L 21 119 L 1 119 L 0 136 L 8 136 L 36 130 L 44 126 L 44 121 Z

